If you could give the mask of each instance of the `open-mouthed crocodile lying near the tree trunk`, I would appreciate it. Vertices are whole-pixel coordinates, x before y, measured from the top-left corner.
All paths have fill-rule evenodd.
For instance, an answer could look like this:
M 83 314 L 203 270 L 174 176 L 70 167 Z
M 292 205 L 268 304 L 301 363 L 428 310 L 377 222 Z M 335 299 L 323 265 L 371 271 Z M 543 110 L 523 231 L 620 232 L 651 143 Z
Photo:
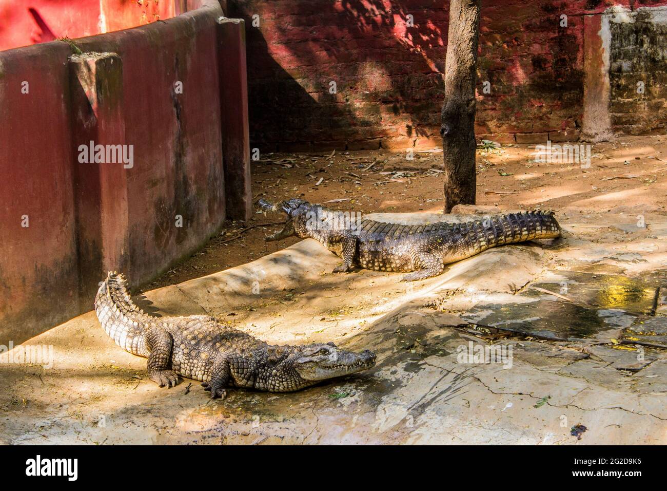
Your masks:
M 265 213 L 287 214 L 283 229 L 265 240 L 292 235 L 314 238 L 343 259 L 333 273 L 344 273 L 354 267 L 410 273 L 401 281 L 438 276 L 445 265 L 491 247 L 560 236 L 554 212 L 510 213 L 457 224 L 401 225 L 360 216 L 350 218 L 350 214 L 310 204 L 301 198 L 276 203 L 261 198 L 257 207 Z

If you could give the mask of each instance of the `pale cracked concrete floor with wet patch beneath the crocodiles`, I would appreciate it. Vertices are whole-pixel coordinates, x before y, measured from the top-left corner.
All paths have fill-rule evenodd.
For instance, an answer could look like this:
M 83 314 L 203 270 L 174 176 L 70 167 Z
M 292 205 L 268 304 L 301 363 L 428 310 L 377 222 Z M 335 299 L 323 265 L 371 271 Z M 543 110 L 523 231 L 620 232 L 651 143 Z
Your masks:
M 0 443 L 665 444 L 667 216 L 647 213 L 646 227 L 632 214 L 557 217 L 564 239 L 554 244 L 492 249 L 417 283 L 333 275 L 338 258 L 303 240 L 135 299 L 273 343 L 336 341 L 378 355 L 374 369 L 296 393 L 232 389 L 211 401 L 187 379 L 161 389 L 145 359 L 115 346 L 93 312 L 81 315 L 25 343 L 52 345 L 53 367 L 0 364 Z M 485 345 L 512 355 L 460 356 Z M 576 425 L 586 427 L 580 440 Z

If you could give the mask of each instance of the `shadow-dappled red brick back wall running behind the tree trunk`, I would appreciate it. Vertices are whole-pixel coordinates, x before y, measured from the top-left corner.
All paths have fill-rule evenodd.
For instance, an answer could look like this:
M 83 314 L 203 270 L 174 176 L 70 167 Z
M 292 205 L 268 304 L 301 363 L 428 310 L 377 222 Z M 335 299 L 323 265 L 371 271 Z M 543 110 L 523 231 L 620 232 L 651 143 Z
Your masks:
M 228 3 L 230 15 L 245 19 L 246 24 L 252 146 L 267 152 L 402 149 L 442 143 L 447 1 Z M 506 143 L 578 139 L 587 110 L 585 70 L 598 69 L 597 58 L 603 56 L 600 49 L 591 49 L 595 59 L 586 60 L 585 41 L 600 41 L 606 35 L 600 31 L 600 17 L 615 7 L 641 11 L 665 4 L 658 0 L 483 1 L 478 137 Z M 592 32 L 596 39 L 585 35 L 587 19 L 594 24 L 590 18 L 598 21 L 598 29 Z M 630 48 L 625 53 L 634 61 L 632 71 L 612 80 L 612 100 L 605 100 L 605 111 L 614 102 L 614 114 L 623 114 L 614 116 L 616 130 L 638 132 L 646 124 L 639 122 L 642 114 L 628 104 L 625 92 L 640 77 L 664 87 L 662 75 L 652 75 L 666 71 L 664 40 L 660 23 L 646 17 L 624 28 L 639 29 L 641 35 L 612 30 L 612 51 L 622 57 L 622 49 Z M 628 44 L 631 38 L 638 42 L 634 49 Z M 641 47 L 654 42 L 662 46 L 659 52 L 642 53 Z M 599 44 L 602 48 L 603 43 Z M 602 83 L 598 78 L 594 77 L 596 83 Z M 635 104 L 664 108 L 661 90 L 654 87 Z

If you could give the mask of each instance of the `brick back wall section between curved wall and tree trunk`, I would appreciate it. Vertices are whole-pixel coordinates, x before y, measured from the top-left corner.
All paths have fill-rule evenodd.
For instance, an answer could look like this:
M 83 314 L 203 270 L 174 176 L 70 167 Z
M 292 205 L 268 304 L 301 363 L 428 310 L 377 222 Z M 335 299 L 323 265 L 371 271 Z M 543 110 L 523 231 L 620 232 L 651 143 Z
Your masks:
M 404 3 L 229 2 L 246 23 L 253 145 L 437 136 L 448 13 Z

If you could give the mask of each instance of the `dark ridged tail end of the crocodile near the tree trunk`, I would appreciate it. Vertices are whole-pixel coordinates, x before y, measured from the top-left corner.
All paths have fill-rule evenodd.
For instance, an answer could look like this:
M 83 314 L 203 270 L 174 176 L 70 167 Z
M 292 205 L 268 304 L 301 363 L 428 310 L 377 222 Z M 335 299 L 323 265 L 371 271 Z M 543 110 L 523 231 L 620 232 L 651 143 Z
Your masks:
M 484 230 L 489 247 L 560 236 L 554 212 L 528 211 L 490 218 Z

